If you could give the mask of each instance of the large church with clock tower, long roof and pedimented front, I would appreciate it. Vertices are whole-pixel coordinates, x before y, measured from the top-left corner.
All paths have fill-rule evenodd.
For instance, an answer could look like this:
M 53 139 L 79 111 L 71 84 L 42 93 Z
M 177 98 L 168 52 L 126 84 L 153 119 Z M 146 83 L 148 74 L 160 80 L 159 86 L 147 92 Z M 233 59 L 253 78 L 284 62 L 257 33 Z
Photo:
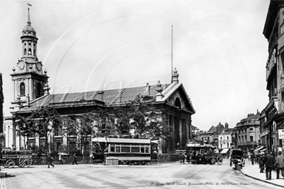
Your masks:
M 60 115 L 76 119 L 81 114 L 98 108 L 124 106 L 134 100 L 137 95 L 149 95 L 155 97 L 154 105 L 163 109 L 162 114 L 166 119 L 164 121 L 172 126 L 172 138 L 159 139 L 159 153 L 169 153 L 177 148 L 186 148 L 187 141 L 191 139 L 191 115 L 195 114 L 195 110 L 184 86 L 179 83 L 179 74 L 176 69 L 172 72 L 172 82 L 169 84 L 162 85 L 158 81 L 157 85 L 147 84 L 142 87 L 51 95 L 48 92 L 47 72 L 46 70 L 43 72 L 43 65 L 37 58 L 38 38 L 31 26 L 29 10 L 28 23 L 23 29 L 21 42 L 22 58 L 11 74 L 14 85 L 14 100 L 11 102 L 12 115 L 16 113 L 28 115 L 32 109 L 48 106 L 56 109 Z M 7 117 L 5 121 L 7 147 L 13 144 L 17 149 L 41 148 L 45 145 L 46 139 L 17 136 L 14 121 L 14 117 Z M 65 151 L 63 146 L 75 145 L 79 148 L 76 136 L 65 136 L 62 132 L 51 134 L 48 141 L 60 151 Z

